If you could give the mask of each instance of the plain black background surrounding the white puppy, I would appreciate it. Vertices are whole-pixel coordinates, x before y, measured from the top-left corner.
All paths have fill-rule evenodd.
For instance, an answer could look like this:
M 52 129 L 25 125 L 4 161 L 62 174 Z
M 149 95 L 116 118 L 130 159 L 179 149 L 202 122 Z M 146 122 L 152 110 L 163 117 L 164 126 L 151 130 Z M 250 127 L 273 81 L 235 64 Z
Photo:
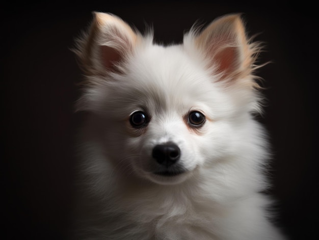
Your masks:
M 7 3 L 0 22 L 3 137 L 2 239 L 65 239 L 74 203 L 73 103 L 82 79 L 73 40 L 92 11 L 119 15 L 140 31 L 152 24 L 159 42 L 181 42 L 184 30 L 241 12 L 250 35 L 264 41 L 259 70 L 268 98 L 260 121 L 270 132 L 271 194 L 290 239 L 314 239 L 318 220 L 316 7 L 293 3 Z M 258 239 L 256 239 L 258 240 Z

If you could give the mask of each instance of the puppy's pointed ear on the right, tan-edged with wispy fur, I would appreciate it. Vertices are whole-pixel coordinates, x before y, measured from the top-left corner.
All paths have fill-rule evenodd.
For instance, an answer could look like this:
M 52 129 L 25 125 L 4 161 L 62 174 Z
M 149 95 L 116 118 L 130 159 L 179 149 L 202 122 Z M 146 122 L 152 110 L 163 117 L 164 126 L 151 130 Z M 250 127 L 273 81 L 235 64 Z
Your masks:
M 205 56 L 207 67 L 218 74 L 221 81 L 249 75 L 260 50 L 258 44 L 247 39 L 239 14 L 220 17 L 200 33 L 193 28 L 186 38 L 192 40 L 192 44 Z

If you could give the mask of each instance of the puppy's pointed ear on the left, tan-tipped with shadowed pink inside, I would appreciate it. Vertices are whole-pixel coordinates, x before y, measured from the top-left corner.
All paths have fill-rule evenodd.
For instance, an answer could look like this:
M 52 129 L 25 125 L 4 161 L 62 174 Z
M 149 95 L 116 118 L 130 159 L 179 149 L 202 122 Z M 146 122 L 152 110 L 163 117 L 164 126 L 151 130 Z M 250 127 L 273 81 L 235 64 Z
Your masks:
M 77 40 L 77 56 L 86 74 L 119 72 L 118 65 L 125 61 L 136 45 L 138 34 L 117 16 L 94 13 L 89 33 Z

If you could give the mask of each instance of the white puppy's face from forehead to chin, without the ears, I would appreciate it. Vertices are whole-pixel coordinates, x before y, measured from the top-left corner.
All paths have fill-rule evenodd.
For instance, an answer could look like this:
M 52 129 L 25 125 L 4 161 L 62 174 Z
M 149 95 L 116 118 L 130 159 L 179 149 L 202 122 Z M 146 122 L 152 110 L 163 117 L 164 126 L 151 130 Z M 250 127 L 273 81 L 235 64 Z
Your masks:
M 105 148 L 125 171 L 173 184 L 227 150 L 230 126 L 220 119 L 232 112 L 232 99 L 181 46 L 141 51 L 126 74 L 98 90 L 109 114 Z

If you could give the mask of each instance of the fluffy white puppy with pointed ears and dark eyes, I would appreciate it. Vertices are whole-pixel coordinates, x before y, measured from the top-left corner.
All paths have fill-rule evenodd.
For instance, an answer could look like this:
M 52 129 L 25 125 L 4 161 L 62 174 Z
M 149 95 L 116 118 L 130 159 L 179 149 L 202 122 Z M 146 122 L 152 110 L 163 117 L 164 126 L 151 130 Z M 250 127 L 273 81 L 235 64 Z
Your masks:
M 74 50 L 87 113 L 75 239 L 284 239 L 261 193 L 260 49 L 238 14 L 163 46 L 94 13 Z

